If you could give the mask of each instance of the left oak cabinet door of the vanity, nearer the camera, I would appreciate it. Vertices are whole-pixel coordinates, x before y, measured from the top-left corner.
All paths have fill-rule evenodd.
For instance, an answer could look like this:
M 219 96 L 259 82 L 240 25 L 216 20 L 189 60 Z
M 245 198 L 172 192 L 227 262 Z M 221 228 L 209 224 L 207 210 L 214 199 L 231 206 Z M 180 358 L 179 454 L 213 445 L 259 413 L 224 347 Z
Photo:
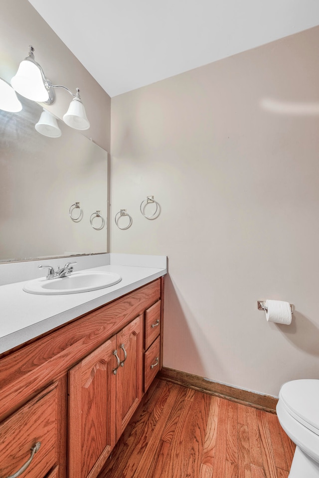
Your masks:
M 69 371 L 69 478 L 95 478 L 115 445 L 116 337 Z

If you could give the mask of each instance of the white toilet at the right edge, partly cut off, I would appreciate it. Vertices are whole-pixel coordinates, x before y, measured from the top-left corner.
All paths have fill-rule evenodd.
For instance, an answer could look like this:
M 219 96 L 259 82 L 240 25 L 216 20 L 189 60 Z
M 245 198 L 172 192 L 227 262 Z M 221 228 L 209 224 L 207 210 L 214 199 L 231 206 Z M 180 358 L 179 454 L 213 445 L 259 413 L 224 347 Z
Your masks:
M 282 428 L 296 444 L 289 478 L 319 478 L 319 380 L 284 383 L 276 410 Z

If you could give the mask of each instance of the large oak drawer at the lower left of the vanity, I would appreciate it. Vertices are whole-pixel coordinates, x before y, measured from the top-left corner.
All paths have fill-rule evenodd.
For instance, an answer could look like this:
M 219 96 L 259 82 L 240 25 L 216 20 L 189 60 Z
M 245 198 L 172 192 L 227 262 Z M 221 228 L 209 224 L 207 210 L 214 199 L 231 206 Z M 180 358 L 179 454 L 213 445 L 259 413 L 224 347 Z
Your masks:
M 31 458 L 23 478 L 42 478 L 57 463 L 57 383 L 0 424 L 0 477 L 16 473 Z M 57 476 L 57 473 L 55 474 Z

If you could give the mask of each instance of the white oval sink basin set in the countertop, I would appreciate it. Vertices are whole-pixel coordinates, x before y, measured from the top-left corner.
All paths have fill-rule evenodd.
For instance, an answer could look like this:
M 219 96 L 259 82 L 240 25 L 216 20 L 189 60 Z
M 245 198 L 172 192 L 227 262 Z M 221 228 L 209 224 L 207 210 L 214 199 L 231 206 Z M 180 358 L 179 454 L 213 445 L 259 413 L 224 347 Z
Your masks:
M 70 276 L 58 279 L 41 277 L 24 284 L 23 290 L 30 294 L 60 295 L 97 291 L 113 286 L 122 280 L 114 272 L 72 272 Z

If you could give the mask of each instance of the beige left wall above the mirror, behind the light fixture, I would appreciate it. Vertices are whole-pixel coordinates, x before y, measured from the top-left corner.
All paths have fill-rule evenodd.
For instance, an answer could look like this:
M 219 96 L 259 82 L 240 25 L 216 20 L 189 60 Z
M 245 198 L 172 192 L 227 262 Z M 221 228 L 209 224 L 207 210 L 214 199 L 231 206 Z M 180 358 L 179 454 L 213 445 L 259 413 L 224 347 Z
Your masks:
M 29 45 L 35 48 L 35 60 L 40 63 L 52 84 L 64 85 L 73 93 L 76 88 L 80 88 L 80 95 L 91 123 L 91 127 L 82 133 L 109 152 L 111 108 L 109 95 L 27 0 L 1 0 L 0 77 L 6 81 L 11 80 L 20 61 L 27 56 Z M 56 89 L 55 92 L 56 101 L 50 107 L 50 111 L 61 119 L 72 97 L 62 89 Z

